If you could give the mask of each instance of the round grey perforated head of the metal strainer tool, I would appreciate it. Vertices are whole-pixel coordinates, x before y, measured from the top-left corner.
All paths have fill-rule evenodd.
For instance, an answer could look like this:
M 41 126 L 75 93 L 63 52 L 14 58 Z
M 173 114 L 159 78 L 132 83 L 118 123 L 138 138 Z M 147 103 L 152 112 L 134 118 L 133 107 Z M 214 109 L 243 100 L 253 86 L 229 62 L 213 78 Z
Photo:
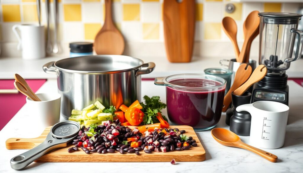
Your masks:
M 78 134 L 80 130 L 79 123 L 75 121 L 62 121 L 53 125 L 50 133 L 54 138 L 70 138 Z

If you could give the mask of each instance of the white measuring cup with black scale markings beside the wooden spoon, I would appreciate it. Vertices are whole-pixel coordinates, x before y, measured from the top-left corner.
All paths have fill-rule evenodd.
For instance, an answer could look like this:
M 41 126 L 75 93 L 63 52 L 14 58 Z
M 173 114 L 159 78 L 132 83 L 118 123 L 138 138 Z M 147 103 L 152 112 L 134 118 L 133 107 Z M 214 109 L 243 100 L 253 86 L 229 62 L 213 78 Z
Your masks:
M 251 115 L 250 145 L 267 149 L 284 145 L 289 107 L 275 101 L 257 101 L 240 105 L 236 111 Z

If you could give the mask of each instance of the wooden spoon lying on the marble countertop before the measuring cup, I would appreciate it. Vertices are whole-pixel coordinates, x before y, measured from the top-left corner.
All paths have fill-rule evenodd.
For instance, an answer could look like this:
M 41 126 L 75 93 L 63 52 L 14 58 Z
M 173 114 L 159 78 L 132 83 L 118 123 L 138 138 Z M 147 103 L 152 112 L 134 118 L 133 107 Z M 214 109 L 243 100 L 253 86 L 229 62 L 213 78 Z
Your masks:
M 278 161 L 278 157 L 276 155 L 273 155 L 259 148 L 255 148 L 253 146 L 245 144 L 244 142 L 241 141 L 239 136 L 233 133 L 232 131 L 226 130 L 224 128 L 214 128 L 211 130 L 211 135 L 217 142 L 219 142 L 222 145 L 228 147 L 243 148 L 245 150 L 252 151 L 271 162 Z

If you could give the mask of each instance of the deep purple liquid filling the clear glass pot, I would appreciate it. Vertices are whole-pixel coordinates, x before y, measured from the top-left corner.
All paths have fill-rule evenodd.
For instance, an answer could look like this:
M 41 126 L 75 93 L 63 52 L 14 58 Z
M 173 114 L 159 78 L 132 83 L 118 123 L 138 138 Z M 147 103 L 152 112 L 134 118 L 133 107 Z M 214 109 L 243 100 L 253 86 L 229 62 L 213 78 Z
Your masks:
M 221 85 L 207 79 L 177 79 L 171 84 L 186 87 Z M 221 118 L 225 88 L 218 91 L 182 91 L 166 87 L 167 114 L 176 125 L 189 125 L 195 129 L 207 129 L 217 125 Z

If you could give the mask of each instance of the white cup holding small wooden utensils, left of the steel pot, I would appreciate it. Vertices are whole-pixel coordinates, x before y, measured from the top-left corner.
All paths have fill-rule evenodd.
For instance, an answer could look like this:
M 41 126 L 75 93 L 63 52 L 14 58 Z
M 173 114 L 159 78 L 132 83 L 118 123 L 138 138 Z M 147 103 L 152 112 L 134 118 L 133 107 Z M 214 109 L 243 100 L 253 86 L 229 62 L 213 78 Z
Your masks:
M 34 115 L 36 127 L 46 128 L 60 121 L 61 95 L 58 93 L 36 94 L 41 101 L 26 97 L 28 112 Z

